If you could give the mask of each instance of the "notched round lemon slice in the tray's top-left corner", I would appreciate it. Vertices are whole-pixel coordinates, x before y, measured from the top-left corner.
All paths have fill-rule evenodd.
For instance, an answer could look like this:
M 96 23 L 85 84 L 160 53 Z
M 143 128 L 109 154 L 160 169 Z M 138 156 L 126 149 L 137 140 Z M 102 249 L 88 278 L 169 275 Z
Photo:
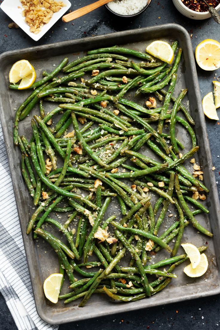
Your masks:
M 20 60 L 13 64 L 9 72 L 9 81 L 11 83 L 20 82 L 18 89 L 29 88 L 36 79 L 36 73 L 33 66 L 27 60 Z

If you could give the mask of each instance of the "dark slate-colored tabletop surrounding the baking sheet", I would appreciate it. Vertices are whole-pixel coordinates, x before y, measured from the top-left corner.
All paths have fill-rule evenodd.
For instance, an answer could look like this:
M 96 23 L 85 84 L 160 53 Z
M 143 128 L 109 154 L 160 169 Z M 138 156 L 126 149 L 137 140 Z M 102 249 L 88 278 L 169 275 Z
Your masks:
M 93 1 L 70 0 L 70 2 L 72 3 L 71 10 L 73 11 Z M 132 20 L 122 20 L 117 16 L 113 16 L 105 7 L 76 19 L 74 23 L 64 23 L 62 20 L 59 20 L 38 42 L 29 38 L 21 29 L 9 29 L 8 24 L 11 21 L 8 16 L 0 11 L 1 52 L 165 23 L 178 23 L 185 27 L 191 35 L 193 49 L 207 38 L 220 41 L 220 26 L 212 18 L 200 21 L 188 19 L 175 9 L 172 0 L 152 0 L 147 10 L 141 16 Z M 67 30 L 64 28 L 67 28 Z M 220 77 L 220 69 L 214 72 L 205 72 L 197 66 L 197 72 L 203 97 L 212 90 L 213 78 Z M 217 75 L 214 76 L 214 74 Z M 220 116 L 220 110 L 218 110 L 218 115 Z M 206 125 L 212 161 L 216 168 L 216 183 L 218 182 L 217 187 L 220 194 L 220 157 L 218 157 L 220 155 L 220 125 L 216 121 L 209 119 L 206 119 Z M 92 330 L 220 329 L 219 303 L 220 296 L 216 295 L 135 312 L 129 312 L 128 304 L 128 313 L 126 314 L 107 315 L 98 319 L 63 324 L 60 326 L 60 330 L 73 328 L 78 330 L 87 328 Z M 1 294 L 0 329 L 16 330 L 16 325 Z

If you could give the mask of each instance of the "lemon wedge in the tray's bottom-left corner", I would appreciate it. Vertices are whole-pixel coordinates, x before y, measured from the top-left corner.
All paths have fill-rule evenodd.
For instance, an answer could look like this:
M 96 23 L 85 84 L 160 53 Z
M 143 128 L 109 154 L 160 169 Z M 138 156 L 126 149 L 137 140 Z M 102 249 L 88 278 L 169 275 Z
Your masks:
M 54 304 L 58 301 L 62 279 L 62 274 L 54 273 L 44 281 L 44 294 Z

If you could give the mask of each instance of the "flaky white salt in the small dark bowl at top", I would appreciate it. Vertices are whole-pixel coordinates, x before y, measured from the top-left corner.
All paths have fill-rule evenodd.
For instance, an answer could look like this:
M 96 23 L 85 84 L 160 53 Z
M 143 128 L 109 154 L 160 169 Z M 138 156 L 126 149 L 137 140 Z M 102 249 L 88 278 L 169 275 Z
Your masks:
M 114 0 L 108 7 L 116 14 L 128 16 L 137 14 L 146 4 L 146 0 Z

